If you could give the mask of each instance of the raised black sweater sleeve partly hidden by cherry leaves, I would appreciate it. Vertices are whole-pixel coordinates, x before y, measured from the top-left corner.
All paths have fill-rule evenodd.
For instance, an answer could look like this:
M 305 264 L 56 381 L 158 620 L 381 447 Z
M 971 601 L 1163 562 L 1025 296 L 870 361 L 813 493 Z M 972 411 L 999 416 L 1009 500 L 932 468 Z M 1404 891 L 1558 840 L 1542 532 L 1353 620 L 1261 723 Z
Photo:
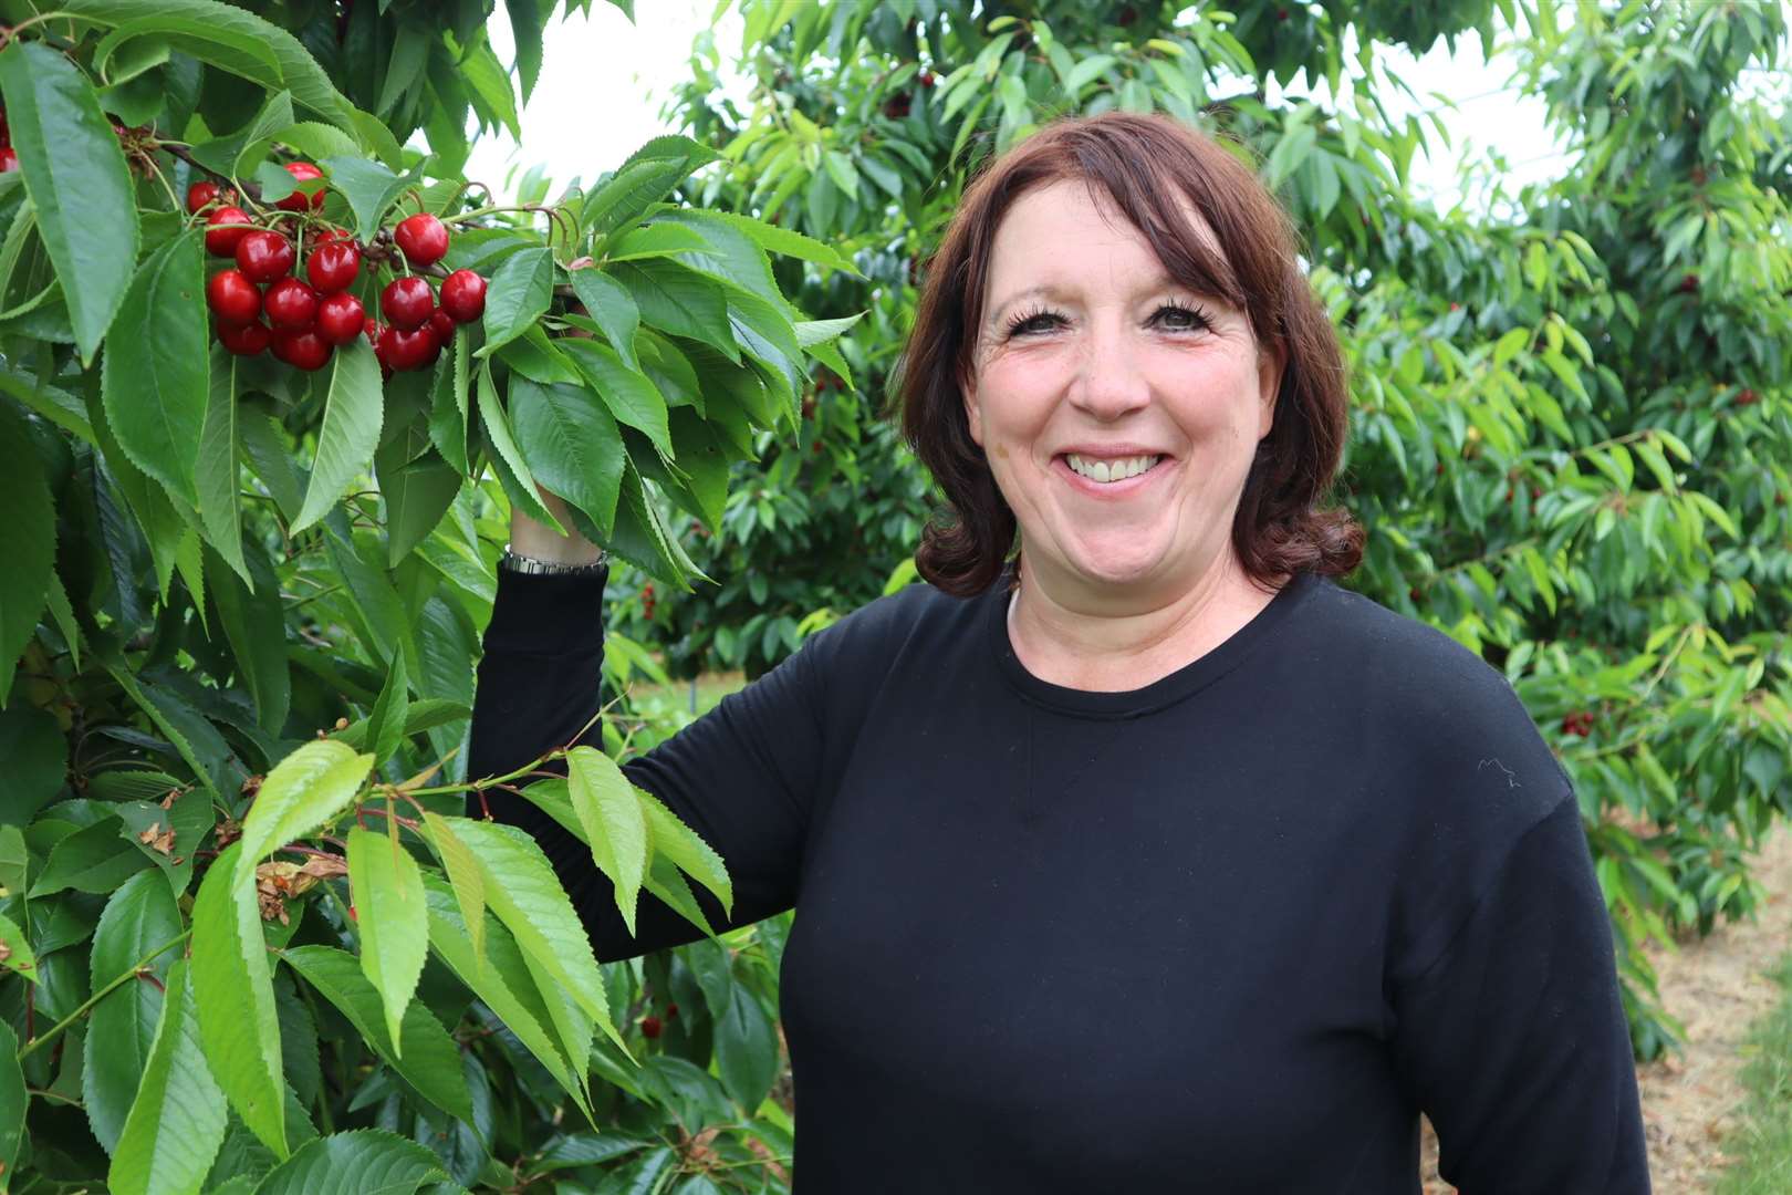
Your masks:
M 602 749 L 599 674 L 604 661 L 602 598 L 607 570 L 584 577 L 498 572 L 473 695 L 468 778 L 500 776 L 554 747 Z M 692 885 L 717 932 L 751 924 L 796 905 L 806 799 L 819 761 L 821 722 L 810 652 L 797 652 L 722 701 L 708 715 L 624 765 L 629 779 L 697 831 L 722 856 L 735 889 L 733 916 Z M 564 772 L 564 765 L 554 765 Z M 491 815 L 529 831 L 573 899 L 604 962 L 702 937 L 649 892 L 636 910 L 638 937 L 616 912 L 609 880 L 591 851 L 527 799 L 484 790 Z M 480 817 L 478 794 L 468 815 Z

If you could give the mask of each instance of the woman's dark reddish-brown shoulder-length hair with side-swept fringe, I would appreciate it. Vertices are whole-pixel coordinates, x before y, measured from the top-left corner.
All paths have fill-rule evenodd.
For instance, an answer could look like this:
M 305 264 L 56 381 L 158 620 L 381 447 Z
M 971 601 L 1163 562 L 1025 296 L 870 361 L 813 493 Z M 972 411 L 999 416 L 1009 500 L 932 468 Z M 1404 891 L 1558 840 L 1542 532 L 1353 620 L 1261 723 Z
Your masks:
M 1301 274 L 1287 213 L 1219 142 L 1168 116 L 1104 113 L 1057 120 L 996 158 L 966 188 L 928 262 L 898 380 L 903 435 L 950 507 L 921 536 L 921 575 L 946 593 L 982 593 L 1014 546 L 1014 512 L 971 439 L 961 380 L 975 376 L 996 228 L 1016 199 L 1059 181 L 1082 181 L 1097 201 L 1111 201 L 1176 281 L 1245 312 L 1262 351 L 1283 362 L 1274 426 L 1258 443 L 1233 520 L 1245 572 L 1267 586 L 1299 572 L 1353 570 L 1362 529 L 1321 505 L 1344 451 L 1344 358 Z M 1213 229 L 1219 253 L 1185 202 Z

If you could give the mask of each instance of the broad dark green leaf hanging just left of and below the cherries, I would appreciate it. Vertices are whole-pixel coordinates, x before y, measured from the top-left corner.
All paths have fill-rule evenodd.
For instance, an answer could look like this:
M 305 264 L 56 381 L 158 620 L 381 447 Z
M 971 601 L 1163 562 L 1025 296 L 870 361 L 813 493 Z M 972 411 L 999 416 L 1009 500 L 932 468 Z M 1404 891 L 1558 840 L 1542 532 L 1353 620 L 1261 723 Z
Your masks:
M 116 263 L 111 271 L 118 274 Z M 131 464 L 199 505 L 199 450 L 211 394 L 199 233 L 149 254 L 118 308 L 100 364 L 106 421 Z

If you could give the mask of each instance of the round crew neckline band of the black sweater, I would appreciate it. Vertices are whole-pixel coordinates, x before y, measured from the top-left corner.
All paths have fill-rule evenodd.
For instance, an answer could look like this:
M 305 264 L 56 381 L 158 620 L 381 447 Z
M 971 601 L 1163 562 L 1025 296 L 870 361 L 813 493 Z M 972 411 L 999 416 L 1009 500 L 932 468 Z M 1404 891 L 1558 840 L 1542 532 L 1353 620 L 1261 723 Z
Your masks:
M 1260 609 L 1251 622 L 1238 627 L 1222 643 L 1204 652 L 1201 658 L 1183 665 L 1176 672 L 1152 681 L 1143 688 L 1120 690 L 1113 693 L 1070 688 L 1054 684 L 1027 670 L 1014 652 L 1014 643 L 1007 632 L 1007 607 L 1011 600 L 1011 575 L 989 588 L 984 595 L 984 631 L 995 652 L 996 666 L 1004 679 L 1027 701 L 1063 713 L 1093 718 L 1136 718 L 1156 713 L 1167 706 L 1192 697 L 1213 681 L 1236 668 L 1258 643 L 1276 627 L 1287 622 L 1306 597 L 1317 588 L 1319 577 L 1314 573 L 1296 573 L 1288 584 L 1276 591 L 1269 606 Z

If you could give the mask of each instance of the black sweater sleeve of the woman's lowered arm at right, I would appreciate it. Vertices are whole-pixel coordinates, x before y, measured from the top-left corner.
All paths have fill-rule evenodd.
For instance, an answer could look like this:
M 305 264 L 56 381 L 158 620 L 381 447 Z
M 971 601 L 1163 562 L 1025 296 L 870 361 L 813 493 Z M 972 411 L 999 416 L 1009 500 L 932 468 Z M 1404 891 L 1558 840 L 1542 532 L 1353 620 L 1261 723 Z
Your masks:
M 1570 794 L 1394 991 L 1394 1055 L 1464 1191 L 1649 1191 L 1611 917 Z

